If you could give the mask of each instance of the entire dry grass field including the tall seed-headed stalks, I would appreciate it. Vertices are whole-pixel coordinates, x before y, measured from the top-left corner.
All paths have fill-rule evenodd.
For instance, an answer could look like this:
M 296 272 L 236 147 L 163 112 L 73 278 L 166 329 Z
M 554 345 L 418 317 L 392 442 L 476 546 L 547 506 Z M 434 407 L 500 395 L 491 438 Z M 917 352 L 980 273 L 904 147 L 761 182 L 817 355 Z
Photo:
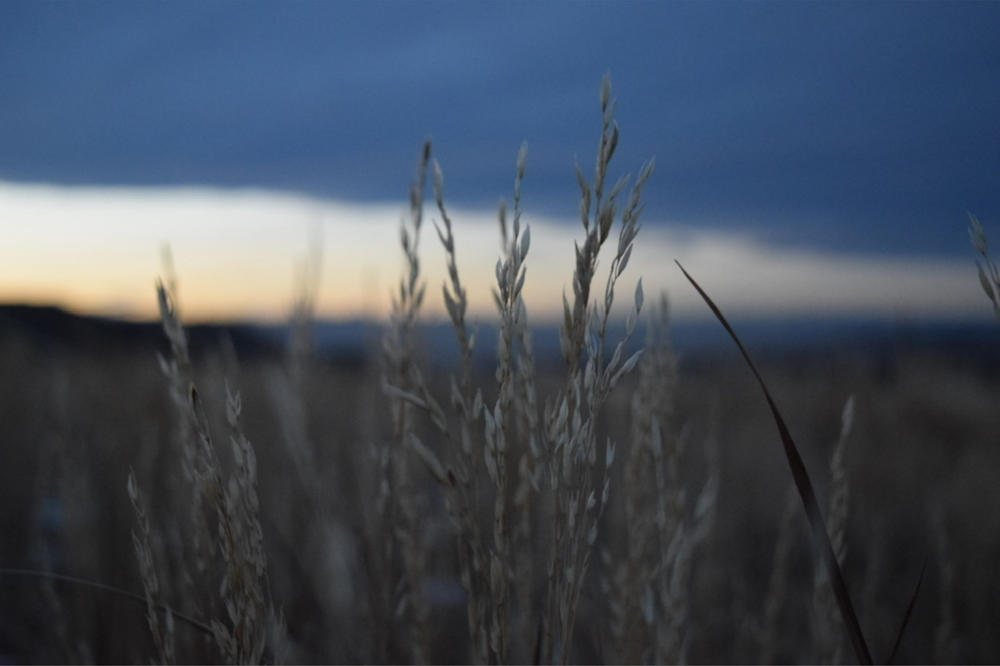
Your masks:
M 430 144 L 378 363 L 344 368 L 311 353 L 310 270 L 284 359 L 239 358 L 224 340 L 195 353 L 169 274 L 158 368 L 152 351 L 90 357 L 7 340 L 0 652 L 995 660 L 997 377 L 905 350 L 888 370 L 846 356 L 679 373 L 665 299 L 644 308 L 641 280 L 622 286 L 653 164 L 634 182 L 612 177 L 608 80 L 600 101 L 593 178 L 577 168 L 582 239 L 557 368 L 536 362 L 521 298 L 526 147 L 512 209 L 499 212 L 499 332 L 486 371 Z M 421 353 L 428 176 L 454 368 Z M 1000 280 L 973 222 L 996 304 Z M 612 339 L 622 292 L 625 334 Z M 768 376 L 766 402 L 754 375 Z

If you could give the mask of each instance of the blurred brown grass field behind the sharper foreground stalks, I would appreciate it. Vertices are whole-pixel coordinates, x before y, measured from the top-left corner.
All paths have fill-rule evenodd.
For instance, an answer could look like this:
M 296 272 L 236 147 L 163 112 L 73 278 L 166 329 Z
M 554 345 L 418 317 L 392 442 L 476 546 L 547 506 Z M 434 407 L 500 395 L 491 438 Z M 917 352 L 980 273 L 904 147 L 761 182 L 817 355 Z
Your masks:
M 130 466 L 154 524 L 164 526 L 162 538 L 178 536 L 167 529 L 178 474 L 174 417 L 155 357 L 165 352 L 165 339 L 152 325 L 111 326 L 52 312 L 48 320 L 40 328 L 23 312 L 5 309 L 0 316 L 2 566 L 65 573 L 141 593 L 130 536 L 134 515 L 125 492 Z M 891 347 L 844 342 L 837 351 L 756 348 L 821 502 L 840 411 L 855 396 L 844 567 L 875 658 L 888 654 L 926 561 L 926 580 L 899 660 L 995 661 L 1000 655 L 993 622 L 1000 612 L 1000 574 L 994 566 L 1000 556 L 995 482 L 1000 340 L 992 356 L 970 356 L 962 345 L 949 349 L 903 335 Z M 247 337 L 242 329 L 202 330 L 192 334 L 192 349 L 209 414 L 222 413 L 224 377 L 243 394 L 244 429 L 259 459 L 270 589 L 287 620 L 288 657 L 366 660 L 371 642 L 386 638 L 365 624 L 365 554 L 359 549 L 365 503 L 376 491 L 366 486 L 374 477 L 365 442 L 386 436 L 377 362 L 356 349 L 339 357 L 320 349 L 308 368 L 305 434 L 325 498 L 324 506 L 317 506 L 317 496 L 290 461 L 283 431 L 288 421 L 281 410 L 287 403 L 280 378 L 286 376 L 287 359 L 280 338 Z M 721 469 L 716 522 L 689 582 L 688 654 L 695 662 L 752 662 L 759 655 L 754 632 L 791 478 L 759 389 L 735 352 L 691 349 L 680 360 L 676 418 L 669 429 L 685 433 L 682 478 L 689 494 L 701 488 L 712 456 Z M 428 365 L 429 381 L 441 391 L 451 370 L 444 363 Z M 540 385 L 558 381 L 545 367 L 540 360 Z M 490 382 L 489 376 L 481 379 Z M 635 380 L 627 381 L 602 420 L 609 432 L 627 431 Z M 214 427 L 224 432 L 224 422 Z M 228 448 L 220 450 L 225 461 Z M 621 510 L 622 483 L 613 482 L 611 516 Z M 431 515 L 440 514 L 433 484 L 425 491 Z M 468 639 L 454 537 L 443 515 L 426 529 L 436 627 L 431 656 L 459 663 L 467 658 Z M 791 591 L 781 609 L 776 660 L 808 662 L 816 656 L 810 624 L 813 560 L 801 511 L 792 529 L 794 549 L 784 574 Z M 613 538 L 609 528 L 601 543 Z M 606 574 L 595 564 L 585 592 L 578 629 L 585 637 L 582 661 L 612 658 L 602 619 L 606 600 L 597 594 Z M 140 604 L 44 579 L 5 575 L 0 586 L 0 654 L 7 660 L 121 663 L 154 654 Z M 178 627 L 179 635 L 185 631 Z M 199 649 L 188 656 L 218 658 L 207 644 Z

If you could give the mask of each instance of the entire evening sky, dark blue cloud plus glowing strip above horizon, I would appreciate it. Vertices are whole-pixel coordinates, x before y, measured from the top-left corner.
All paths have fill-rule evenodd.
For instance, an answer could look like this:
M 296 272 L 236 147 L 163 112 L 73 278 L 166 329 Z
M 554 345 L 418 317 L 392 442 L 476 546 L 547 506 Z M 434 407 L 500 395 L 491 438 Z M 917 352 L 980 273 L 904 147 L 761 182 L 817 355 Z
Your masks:
M 0 3 L 0 301 L 152 317 L 169 245 L 193 319 L 286 316 L 316 254 L 321 315 L 384 316 L 430 137 L 484 317 L 528 142 L 551 316 L 610 72 L 612 177 L 656 158 L 622 302 L 642 275 L 706 316 L 679 259 L 736 314 L 988 318 L 998 29 L 974 2 Z

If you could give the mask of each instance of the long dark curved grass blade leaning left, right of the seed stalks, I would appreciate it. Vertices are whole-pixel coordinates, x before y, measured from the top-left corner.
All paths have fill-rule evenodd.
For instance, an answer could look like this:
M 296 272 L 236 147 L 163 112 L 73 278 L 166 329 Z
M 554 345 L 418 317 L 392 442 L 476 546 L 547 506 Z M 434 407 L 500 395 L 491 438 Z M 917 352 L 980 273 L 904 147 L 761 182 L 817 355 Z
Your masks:
M 854 654 L 858 658 L 858 663 L 861 664 L 871 664 L 872 657 L 871 652 L 868 651 L 868 644 L 865 642 L 864 634 L 861 632 L 861 624 L 858 622 L 858 615 L 854 612 L 854 605 L 851 603 L 850 594 L 847 592 L 847 584 L 844 582 L 844 575 L 840 570 L 840 565 L 837 563 L 837 557 L 833 552 L 833 544 L 830 543 L 830 534 L 827 532 L 826 523 L 823 521 L 823 515 L 819 509 L 819 502 L 816 501 L 816 492 L 813 490 L 812 481 L 809 479 L 809 473 L 806 471 L 805 463 L 802 462 L 802 456 L 799 455 L 798 447 L 795 446 L 795 441 L 792 439 L 791 433 L 788 431 L 788 426 L 785 425 L 785 420 L 782 418 L 781 413 L 778 411 L 778 406 L 774 402 L 774 398 L 771 397 L 771 392 L 768 391 L 767 385 L 764 383 L 764 379 L 757 372 L 757 367 L 753 364 L 750 359 L 750 354 L 747 353 L 746 348 L 743 347 L 743 343 L 740 342 L 739 337 L 736 335 L 736 331 L 733 330 L 729 322 L 723 316 L 722 311 L 719 310 L 718 306 L 712 302 L 712 299 L 708 297 L 705 290 L 702 289 L 697 282 L 694 281 L 688 272 L 684 270 L 679 261 L 675 261 L 677 266 L 684 273 L 684 277 L 694 286 L 698 293 L 701 295 L 702 299 L 712 310 L 716 319 L 719 323 L 726 329 L 729 336 L 739 347 L 740 353 L 743 354 L 743 359 L 750 366 L 750 370 L 753 371 L 754 377 L 757 378 L 757 383 L 760 385 L 761 390 L 764 392 L 764 397 L 767 399 L 767 404 L 771 408 L 771 415 L 774 417 L 774 422 L 778 426 L 778 434 L 781 436 L 781 443 L 785 447 L 785 457 L 788 459 L 788 466 L 792 470 L 792 477 L 795 479 L 795 487 L 799 491 L 799 497 L 802 498 L 802 504 L 806 509 L 806 516 L 809 518 L 809 526 L 812 529 L 813 537 L 816 540 L 817 547 L 820 551 L 820 558 L 826 565 L 827 574 L 830 577 L 830 583 L 833 586 L 833 593 L 837 598 L 837 605 L 840 607 L 840 614 L 844 618 L 844 624 L 847 626 L 847 633 L 851 637 L 851 645 L 854 647 Z

